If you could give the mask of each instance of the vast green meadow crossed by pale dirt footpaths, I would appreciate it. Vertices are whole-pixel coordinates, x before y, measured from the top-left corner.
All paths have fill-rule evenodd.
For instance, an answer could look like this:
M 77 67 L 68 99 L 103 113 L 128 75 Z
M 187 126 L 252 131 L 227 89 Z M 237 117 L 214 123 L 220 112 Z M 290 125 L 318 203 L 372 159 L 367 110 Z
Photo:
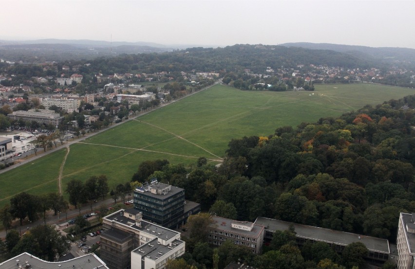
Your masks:
M 146 160 L 189 164 L 205 156 L 219 161 L 232 138 L 269 135 L 280 126 L 312 123 L 413 93 L 374 84 L 316 85 L 314 92 L 240 91 L 216 85 L 72 145 L 63 166 L 62 189 L 70 179 L 101 174 L 114 188 L 129 181 Z M 59 150 L 1 174 L 0 206 L 22 191 L 57 191 L 66 152 Z

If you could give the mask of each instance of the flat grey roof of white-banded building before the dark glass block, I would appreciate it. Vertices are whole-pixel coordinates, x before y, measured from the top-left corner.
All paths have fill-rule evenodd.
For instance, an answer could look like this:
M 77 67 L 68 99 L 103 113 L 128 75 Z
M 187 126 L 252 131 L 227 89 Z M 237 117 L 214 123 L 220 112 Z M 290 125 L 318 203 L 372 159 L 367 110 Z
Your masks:
M 132 215 L 135 215 L 136 213 L 138 213 L 138 210 L 128 209 L 128 213 L 131 213 Z M 172 237 L 174 237 L 178 234 L 178 232 L 175 232 L 173 230 L 164 228 L 163 226 L 153 224 L 150 221 L 145 221 L 145 220 L 142 220 L 141 221 L 141 227 L 138 227 L 137 225 L 135 225 L 135 220 L 133 220 L 129 217 L 126 217 L 124 215 L 120 215 L 118 211 L 111 214 L 111 215 L 107 215 L 104 218 L 108 219 L 108 220 L 112 220 L 112 221 L 114 220 L 118 223 L 130 226 L 132 229 L 135 229 L 137 231 L 142 231 L 142 232 L 145 232 L 145 233 L 151 233 L 151 234 L 157 235 L 157 237 L 163 238 L 164 240 L 169 240 L 170 238 L 172 238 Z M 160 234 L 158 234 L 158 233 L 160 233 Z

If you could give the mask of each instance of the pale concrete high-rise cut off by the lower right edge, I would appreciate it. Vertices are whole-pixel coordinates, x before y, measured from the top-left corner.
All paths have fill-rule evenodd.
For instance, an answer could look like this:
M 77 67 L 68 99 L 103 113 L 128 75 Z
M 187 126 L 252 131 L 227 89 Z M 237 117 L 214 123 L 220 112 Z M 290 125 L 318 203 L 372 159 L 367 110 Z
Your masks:
M 399 215 L 398 233 L 396 238 L 397 268 L 415 268 L 415 213 Z

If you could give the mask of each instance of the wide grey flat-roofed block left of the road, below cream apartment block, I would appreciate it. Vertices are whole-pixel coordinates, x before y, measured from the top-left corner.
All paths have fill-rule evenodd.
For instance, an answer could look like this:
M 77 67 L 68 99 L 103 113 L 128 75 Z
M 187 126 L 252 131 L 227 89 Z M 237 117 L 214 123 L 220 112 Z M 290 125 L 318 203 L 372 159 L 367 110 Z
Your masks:
M 52 124 L 58 126 L 62 121 L 63 117 L 56 113 L 54 110 L 48 109 L 29 109 L 28 111 L 18 110 L 13 111 L 7 115 L 10 119 L 19 120 L 22 119 L 25 122 L 36 121 L 40 124 Z

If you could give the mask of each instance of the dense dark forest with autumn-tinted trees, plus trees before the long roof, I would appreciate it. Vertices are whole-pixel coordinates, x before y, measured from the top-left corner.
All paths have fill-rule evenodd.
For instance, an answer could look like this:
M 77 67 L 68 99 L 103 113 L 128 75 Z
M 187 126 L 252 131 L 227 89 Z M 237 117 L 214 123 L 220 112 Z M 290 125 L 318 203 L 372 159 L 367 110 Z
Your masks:
M 339 118 L 321 118 L 296 128 L 279 127 L 267 137 L 231 140 L 220 167 L 203 157 L 190 169 L 166 160 L 146 161 L 132 180 L 144 182 L 156 177 L 169 181 L 185 188 L 186 198 L 201 203 L 203 210 L 223 217 L 254 221 L 264 216 L 393 243 L 399 213 L 415 211 L 414 108 L 415 96 L 407 96 Z M 334 258 L 322 255 L 315 260 L 313 253 L 318 250 L 313 248 L 323 248 L 320 245 L 294 250 L 297 247 L 287 239 L 294 232 L 278 233 L 283 239 L 274 238 L 271 248 L 265 248 L 260 257 L 252 258 L 242 250 L 232 253 L 245 253 L 243 259 L 251 257 L 250 262 L 258 268 L 272 268 L 263 264 L 267 255 L 283 259 L 289 253 L 297 253 L 301 265 L 277 268 L 353 267 L 335 253 Z M 188 253 L 183 262 L 198 266 L 204 240 L 203 236 L 200 241 L 188 239 L 190 253 L 196 254 Z M 276 243 L 281 240 L 285 243 Z M 323 263 L 332 264 L 320 265 L 323 258 L 329 259 Z

